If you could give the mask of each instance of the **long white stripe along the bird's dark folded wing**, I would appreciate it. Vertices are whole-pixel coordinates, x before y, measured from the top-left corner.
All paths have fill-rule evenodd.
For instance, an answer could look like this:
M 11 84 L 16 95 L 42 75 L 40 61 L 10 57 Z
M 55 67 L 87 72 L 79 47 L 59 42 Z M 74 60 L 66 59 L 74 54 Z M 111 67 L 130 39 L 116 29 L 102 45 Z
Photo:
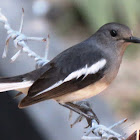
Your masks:
M 84 78 L 85 78 L 88 74 L 95 74 L 99 70 L 101 70 L 105 65 L 106 65 L 106 59 L 101 59 L 100 61 L 96 62 L 95 64 L 91 65 L 90 67 L 88 67 L 86 65 L 84 68 L 72 72 L 64 80 L 58 81 L 57 83 L 55 83 L 54 85 L 50 86 L 49 88 L 39 92 L 37 95 L 39 95 L 41 93 L 44 93 L 44 92 L 47 92 L 47 91 L 49 91 L 49 90 L 51 90 L 53 88 L 56 88 L 56 87 L 60 86 L 61 84 L 63 84 L 64 82 L 68 82 L 68 81 L 70 81 L 70 80 L 72 80 L 74 78 L 78 79 L 82 75 L 84 75 Z

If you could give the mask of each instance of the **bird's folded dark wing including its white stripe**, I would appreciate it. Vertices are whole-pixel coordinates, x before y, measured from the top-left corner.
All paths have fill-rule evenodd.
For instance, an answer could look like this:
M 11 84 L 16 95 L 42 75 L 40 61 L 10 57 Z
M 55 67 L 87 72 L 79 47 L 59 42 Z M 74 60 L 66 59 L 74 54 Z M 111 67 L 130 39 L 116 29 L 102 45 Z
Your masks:
M 77 51 L 66 50 L 54 58 L 52 67 L 34 82 L 20 107 L 71 93 L 102 78 L 107 63 L 102 54 L 88 48 Z

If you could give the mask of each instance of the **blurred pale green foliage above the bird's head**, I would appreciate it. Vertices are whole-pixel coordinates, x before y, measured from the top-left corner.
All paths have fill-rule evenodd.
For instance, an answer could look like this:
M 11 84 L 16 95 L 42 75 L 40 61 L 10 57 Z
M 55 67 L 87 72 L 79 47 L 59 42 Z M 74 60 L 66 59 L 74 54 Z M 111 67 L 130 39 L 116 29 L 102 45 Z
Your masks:
M 120 22 L 128 26 L 138 24 L 140 1 L 138 0 L 73 0 L 91 29 L 98 29 L 108 22 Z

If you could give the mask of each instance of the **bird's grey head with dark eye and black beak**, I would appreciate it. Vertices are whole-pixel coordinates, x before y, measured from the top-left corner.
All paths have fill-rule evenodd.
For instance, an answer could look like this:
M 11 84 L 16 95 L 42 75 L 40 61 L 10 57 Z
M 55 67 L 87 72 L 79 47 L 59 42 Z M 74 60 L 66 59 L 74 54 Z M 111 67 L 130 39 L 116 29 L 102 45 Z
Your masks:
M 103 25 L 96 32 L 96 36 L 98 41 L 108 47 L 126 48 L 130 43 L 140 43 L 140 38 L 134 37 L 129 27 L 119 23 Z

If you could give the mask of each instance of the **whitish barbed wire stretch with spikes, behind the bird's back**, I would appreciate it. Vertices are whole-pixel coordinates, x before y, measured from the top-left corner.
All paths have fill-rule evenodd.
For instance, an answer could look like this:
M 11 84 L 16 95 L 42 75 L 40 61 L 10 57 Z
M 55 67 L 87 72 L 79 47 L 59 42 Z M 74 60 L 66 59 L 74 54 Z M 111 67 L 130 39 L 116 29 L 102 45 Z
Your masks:
M 7 30 L 7 39 L 6 39 L 6 45 L 4 48 L 4 52 L 2 57 L 5 58 L 7 56 L 7 52 L 8 52 L 8 45 L 9 45 L 9 41 L 10 39 L 13 39 L 14 42 L 14 46 L 16 48 L 18 48 L 18 52 L 11 58 L 11 61 L 14 62 L 18 56 L 24 52 L 27 53 L 29 57 L 32 57 L 35 59 L 36 61 L 36 67 L 42 67 L 43 65 L 45 65 L 46 63 L 49 62 L 49 60 L 47 59 L 48 57 L 48 47 L 49 47 L 49 36 L 48 36 L 48 40 L 46 38 L 42 38 L 42 37 L 27 37 L 26 35 L 22 34 L 22 30 L 23 30 L 23 21 L 24 21 L 24 9 L 22 8 L 22 17 L 21 17 L 21 23 L 20 23 L 20 28 L 19 31 L 13 30 L 10 27 L 10 24 L 8 23 L 7 18 L 2 14 L 1 9 L 0 9 L 0 22 L 4 24 L 4 28 Z M 46 45 L 46 53 L 45 53 L 45 57 L 42 58 L 39 55 L 37 55 L 35 52 L 33 52 L 28 45 L 26 44 L 27 41 L 46 41 L 47 40 L 47 45 Z

